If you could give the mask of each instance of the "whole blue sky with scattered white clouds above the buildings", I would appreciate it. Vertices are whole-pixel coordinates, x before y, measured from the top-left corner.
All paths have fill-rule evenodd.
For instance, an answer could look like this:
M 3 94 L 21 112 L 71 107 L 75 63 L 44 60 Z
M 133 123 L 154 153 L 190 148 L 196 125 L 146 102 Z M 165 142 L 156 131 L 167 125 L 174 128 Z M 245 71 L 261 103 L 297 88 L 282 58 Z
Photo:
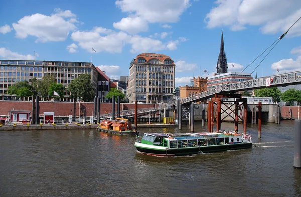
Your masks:
M 90 62 L 94 48 L 93 64 L 119 79 L 138 54 L 161 53 L 177 64 L 176 86 L 184 86 L 216 72 L 222 30 L 228 71 L 240 72 L 300 17 L 299 0 L 2 1 L 0 59 L 32 60 L 35 52 L 36 60 Z M 300 36 L 301 20 L 257 76 L 301 70 Z

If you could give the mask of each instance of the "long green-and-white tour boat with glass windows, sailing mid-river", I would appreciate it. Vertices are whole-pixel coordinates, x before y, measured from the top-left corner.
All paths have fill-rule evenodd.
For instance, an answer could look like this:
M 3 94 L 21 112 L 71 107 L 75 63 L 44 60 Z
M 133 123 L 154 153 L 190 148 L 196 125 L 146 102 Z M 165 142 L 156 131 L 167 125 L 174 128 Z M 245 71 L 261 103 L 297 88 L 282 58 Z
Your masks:
M 252 137 L 242 133 L 145 133 L 134 146 L 138 152 L 157 156 L 180 156 L 252 147 Z

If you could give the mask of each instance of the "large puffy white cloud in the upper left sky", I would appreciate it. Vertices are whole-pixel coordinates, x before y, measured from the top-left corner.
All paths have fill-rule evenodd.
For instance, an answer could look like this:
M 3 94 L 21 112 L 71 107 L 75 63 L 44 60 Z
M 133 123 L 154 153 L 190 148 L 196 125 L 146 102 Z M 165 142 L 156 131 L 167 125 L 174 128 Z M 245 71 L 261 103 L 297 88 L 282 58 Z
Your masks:
M 55 9 L 55 14 L 51 16 L 39 13 L 25 16 L 18 23 L 13 23 L 13 27 L 17 38 L 35 36 L 38 38 L 36 42 L 45 43 L 66 40 L 70 31 L 76 30 L 75 23 L 77 22 L 76 15 L 71 11 Z

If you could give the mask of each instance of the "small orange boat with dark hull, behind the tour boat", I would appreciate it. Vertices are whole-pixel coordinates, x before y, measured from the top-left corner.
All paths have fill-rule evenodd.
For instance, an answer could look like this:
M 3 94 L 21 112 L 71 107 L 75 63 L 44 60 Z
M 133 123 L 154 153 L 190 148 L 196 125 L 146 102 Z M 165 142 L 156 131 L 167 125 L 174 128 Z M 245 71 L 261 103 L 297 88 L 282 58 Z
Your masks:
M 97 130 L 118 135 L 139 135 L 138 131 L 132 129 L 130 121 L 125 118 L 115 118 L 115 120 L 103 120 L 97 127 Z

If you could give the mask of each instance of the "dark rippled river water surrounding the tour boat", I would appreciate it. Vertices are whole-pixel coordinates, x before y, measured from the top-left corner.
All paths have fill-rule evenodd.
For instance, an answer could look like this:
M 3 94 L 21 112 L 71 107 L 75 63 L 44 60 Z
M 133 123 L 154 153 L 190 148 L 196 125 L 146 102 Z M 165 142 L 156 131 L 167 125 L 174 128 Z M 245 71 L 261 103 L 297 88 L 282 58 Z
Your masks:
M 206 129 L 196 122 L 196 131 Z M 0 196 L 300 196 L 293 122 L 263 124 L 261 139 L 257 125 L 247 132 L 250 149 L 156 157 L 136 152 L 132 136 L 95 129 L 1 131 Z

